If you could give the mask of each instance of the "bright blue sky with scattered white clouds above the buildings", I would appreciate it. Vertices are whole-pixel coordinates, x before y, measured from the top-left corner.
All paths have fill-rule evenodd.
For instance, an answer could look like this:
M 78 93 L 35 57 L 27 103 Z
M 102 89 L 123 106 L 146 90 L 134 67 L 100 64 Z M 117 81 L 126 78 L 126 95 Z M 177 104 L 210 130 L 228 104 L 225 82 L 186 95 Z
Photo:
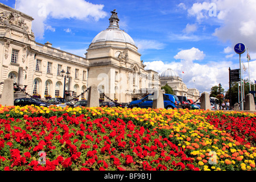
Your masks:
M 15 7 L 15 0 L 0 2 Z M 34 18 L 36 42 L 79 56 L 108 28 L 110 11 L 116 9 L 119 27 L 134 39 L 146 69 L 172 68 L 188 88 L 195 85 L 200 92 L 219 83 L 228 90 L 228 68 L 240 67 L 234 45 L 244 43 L 250 78 L 256 80 L 255 0 L 17 0 L 16 9 Z M 243 76 L 249 78 L 246 52 L 242 61 Z

